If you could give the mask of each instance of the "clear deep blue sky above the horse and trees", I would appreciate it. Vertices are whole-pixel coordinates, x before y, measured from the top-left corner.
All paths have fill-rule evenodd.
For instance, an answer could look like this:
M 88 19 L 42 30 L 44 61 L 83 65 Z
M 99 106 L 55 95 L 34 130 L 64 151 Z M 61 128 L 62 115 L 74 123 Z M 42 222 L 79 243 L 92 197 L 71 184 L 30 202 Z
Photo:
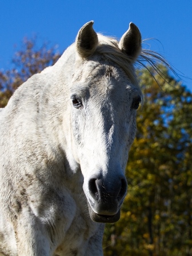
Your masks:
M 80 27 L 94 21 L 94 29 L 120 38 L 134 22 L 150 49 L 161 53 L 175 69 L 192 78 L 192 1 L 185 0 L 6 0 L 1 1 L 0 69 L 11 65 L 23 37 L 49 41 L 62 52 L 74 42 Z M 160 43 L 161 42 L 161 43 Z M 182 78 L 192 91 L 192 80 Z

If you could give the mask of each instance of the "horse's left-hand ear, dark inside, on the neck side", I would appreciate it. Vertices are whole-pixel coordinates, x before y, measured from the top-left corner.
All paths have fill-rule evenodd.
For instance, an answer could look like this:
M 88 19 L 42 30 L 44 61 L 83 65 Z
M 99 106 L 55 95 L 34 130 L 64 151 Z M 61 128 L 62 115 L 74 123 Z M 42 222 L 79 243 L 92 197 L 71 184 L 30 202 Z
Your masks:
M 94 53 L 98 45 L 97 33 L 93 29 L 93 21 L 87 22 L 79 30 L 76 38 L 76 49 L 82 58 L 89 57 Z

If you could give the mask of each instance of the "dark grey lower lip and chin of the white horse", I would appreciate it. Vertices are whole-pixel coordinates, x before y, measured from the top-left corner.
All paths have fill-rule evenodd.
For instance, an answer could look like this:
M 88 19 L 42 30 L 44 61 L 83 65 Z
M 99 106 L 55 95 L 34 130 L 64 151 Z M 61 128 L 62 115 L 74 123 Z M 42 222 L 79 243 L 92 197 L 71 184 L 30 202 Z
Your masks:
M 92 221 L 102 222 L 102 223 L 114 223 L 120 219 L 120 209 L 114 215 L 102 215 L 102 214 L 95 213 L 91 208 L 91 206 L 89 205 L 89 203 L 88 203 L 88 206 L 89 206 L 89 215 Z

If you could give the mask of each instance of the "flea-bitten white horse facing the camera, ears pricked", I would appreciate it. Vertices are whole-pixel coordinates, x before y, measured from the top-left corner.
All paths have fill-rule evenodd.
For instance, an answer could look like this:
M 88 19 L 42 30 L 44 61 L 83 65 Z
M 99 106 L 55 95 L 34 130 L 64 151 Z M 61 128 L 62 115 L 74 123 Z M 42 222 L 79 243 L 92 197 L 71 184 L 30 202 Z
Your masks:
M 141 44 L 134 23 L 118 41 L 87 22 L 1 109 L 1 255 L 103 255 L 143 101 L 134 64 L 154 57 Z

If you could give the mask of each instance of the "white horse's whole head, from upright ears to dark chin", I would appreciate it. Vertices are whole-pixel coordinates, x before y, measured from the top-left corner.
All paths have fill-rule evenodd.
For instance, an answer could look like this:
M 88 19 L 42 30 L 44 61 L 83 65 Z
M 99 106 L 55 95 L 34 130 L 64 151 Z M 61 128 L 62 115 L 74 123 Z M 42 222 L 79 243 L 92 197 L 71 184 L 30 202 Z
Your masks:
M 115 222 L 127 191 L 125 167 L 142 101 L 133 64 L 141 34 L 130 23 L 119 42 L 95 33 L 86 23 L 75 41 L 70 85 L 71 139 L 81 166 L 91 219 Z

